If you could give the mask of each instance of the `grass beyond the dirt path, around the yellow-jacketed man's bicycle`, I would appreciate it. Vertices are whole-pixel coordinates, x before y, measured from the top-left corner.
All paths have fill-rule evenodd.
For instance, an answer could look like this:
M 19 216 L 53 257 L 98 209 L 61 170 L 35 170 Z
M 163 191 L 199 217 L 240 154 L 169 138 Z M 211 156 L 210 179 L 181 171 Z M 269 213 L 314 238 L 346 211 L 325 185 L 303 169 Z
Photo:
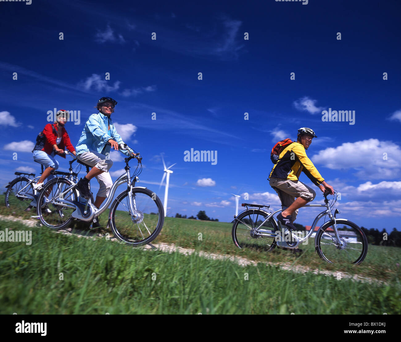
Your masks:
M 197 221 L 166 217 L 164 226 L 154 242 L 174 243 L 181 247 L 201 247 L 203 251 L 235 255 L 256 262 L 288 263 L 312 269 L 345 272 L 360 277 L 369 277 L 386 282 L 394 276 L 400 278 L 401 248 L 369 245 L 365 260 L 358 266 L 336 266 L 319 258 L 314 250 L 314 238 L 307 245 L 300 245 L 304 251 L 299 257 L 290 251 L 275 248 L 271 252 L 239 249 L 231 238 L 231 223 Z M 202 240 L 198 239 L 202 235 Z

